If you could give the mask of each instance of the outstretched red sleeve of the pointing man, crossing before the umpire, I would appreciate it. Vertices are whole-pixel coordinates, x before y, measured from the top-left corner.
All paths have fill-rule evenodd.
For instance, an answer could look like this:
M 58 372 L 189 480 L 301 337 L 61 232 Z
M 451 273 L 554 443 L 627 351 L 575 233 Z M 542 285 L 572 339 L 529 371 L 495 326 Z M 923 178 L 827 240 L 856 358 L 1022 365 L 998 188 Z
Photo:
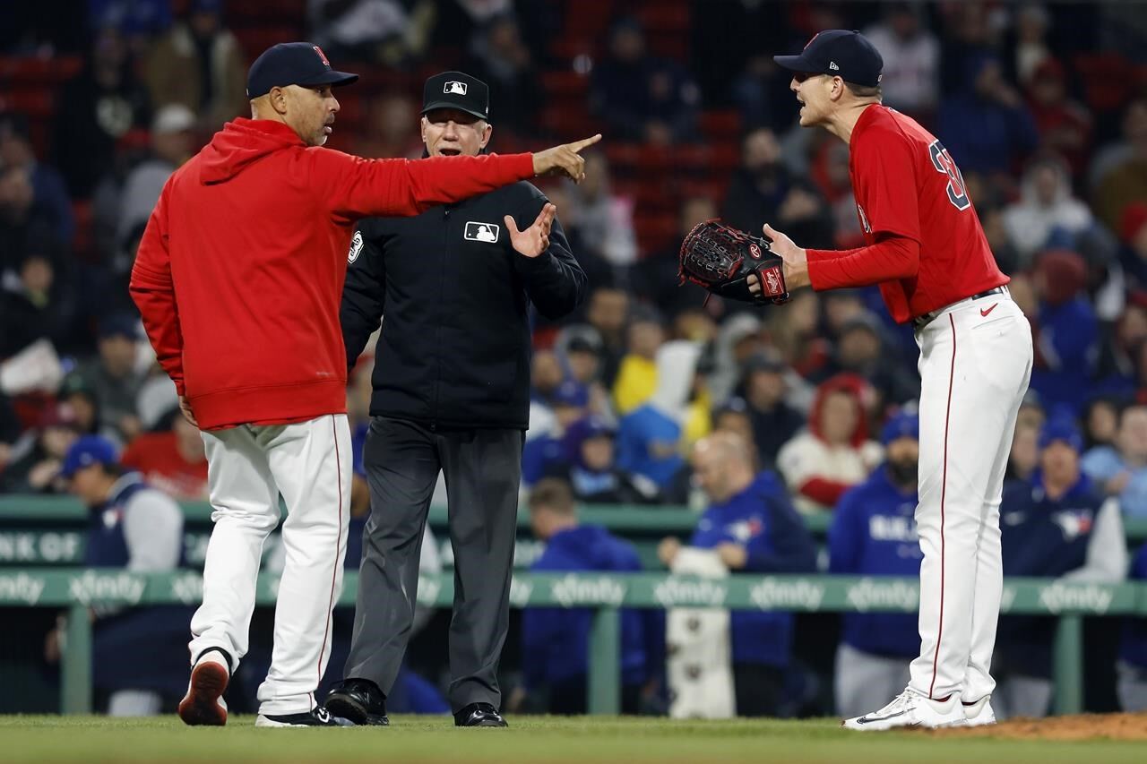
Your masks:
M 364 159 L 312 149 L 313 178 L 340 217 L 413 216 L 533 178 L 531 154 Z

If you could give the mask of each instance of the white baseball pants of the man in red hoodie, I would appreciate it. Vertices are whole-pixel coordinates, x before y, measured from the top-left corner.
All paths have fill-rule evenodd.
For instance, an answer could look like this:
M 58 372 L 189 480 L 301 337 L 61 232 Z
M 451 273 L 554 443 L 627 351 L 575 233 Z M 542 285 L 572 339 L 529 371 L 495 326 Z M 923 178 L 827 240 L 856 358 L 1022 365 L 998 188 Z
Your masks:
M 236 665 L 247 654 L 263 544 L 279 524 L 281 493 L 286 563 L 259 714 L 310 711 L 330 657 L 330 613 L 343 585 L 352 469 L 346 415 L 244 424 L 203 432 L 203 443 L 214 529 L 203 605 L 192 618 L 192 661 L 209 647 L 226 649 Z

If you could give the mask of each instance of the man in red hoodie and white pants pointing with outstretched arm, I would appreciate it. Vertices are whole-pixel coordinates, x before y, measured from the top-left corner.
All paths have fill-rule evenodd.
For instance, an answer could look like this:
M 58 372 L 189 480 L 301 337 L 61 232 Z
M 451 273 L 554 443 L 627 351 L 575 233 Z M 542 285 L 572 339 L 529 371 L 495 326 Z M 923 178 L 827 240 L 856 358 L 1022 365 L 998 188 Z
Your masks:
M 203 430 L 214 529 L 192 677 L 179 716 L 221 725 L 247 653 L 263 544 L 279 524 L 287 562 L 258 726 L 329 726 L 326 671 L 350 508 L 346 359 L 338 305 L 354 221 L 413 216 L 537 174 L 584 176 L 600 135 L 539 154 L 362 159 L 322 148 L 336 71 L 310 42 L 265 50 L 248 72 L 251 119 L 224 125 L 167 180 L 131 294 L 188 421 Z M 548 235 L 553 210 L 533 223 Z

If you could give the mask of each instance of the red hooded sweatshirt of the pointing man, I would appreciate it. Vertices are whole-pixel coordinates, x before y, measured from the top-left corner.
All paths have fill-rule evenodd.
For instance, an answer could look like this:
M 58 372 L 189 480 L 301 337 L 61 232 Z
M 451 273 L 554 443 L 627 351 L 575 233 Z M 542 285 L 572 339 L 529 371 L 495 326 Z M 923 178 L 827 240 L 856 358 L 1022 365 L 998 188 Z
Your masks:
M 202 429 L 344 413 L 338 304 L 354 221 L 532 177 L 529 154 L 362 159 L 239 118 L 164 186 L 132 298 Z

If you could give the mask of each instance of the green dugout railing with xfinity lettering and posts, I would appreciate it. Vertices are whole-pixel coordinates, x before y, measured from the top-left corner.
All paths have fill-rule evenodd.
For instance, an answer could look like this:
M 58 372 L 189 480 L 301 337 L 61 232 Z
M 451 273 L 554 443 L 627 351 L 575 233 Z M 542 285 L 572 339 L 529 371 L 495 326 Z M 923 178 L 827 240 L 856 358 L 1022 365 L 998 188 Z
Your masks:
M 338 602 L 353 606 L 358 576 L 348 571 Z M 275 600 L 278 579 L 263 575 L 257 603 Z M 0 608 L 42 607 L 69 611 L 62 655 L 61 711 L 92 710 L 92 624 L 94 605 L 194 605 L 202 597 L 200 574 L 132 574 L 83 568 L 0 569 Z M 751 576 L 695 578 L 658 574 L 530 574 L 514 575 L 510 605 L 523 607 L 592 608 L 588 710 L 617 714 L 619 709 L 619 609 L 723 607 L 733 610 L 811 613 L 875 613 L 916 610 L 919 584 L 914 578 L 858 578 L 841 576 Z M 419 602 L 450 607 L 453 577 L 423 577 Z M 1054 648 L 1054 710 L 1083 709 L 1083 618 L 1085 616 L 1147 617 L 1147 584 L 1064 583 L 1051 579 L 1006 579 L 1004 614 L 1032 614 L 1058 618 Z

